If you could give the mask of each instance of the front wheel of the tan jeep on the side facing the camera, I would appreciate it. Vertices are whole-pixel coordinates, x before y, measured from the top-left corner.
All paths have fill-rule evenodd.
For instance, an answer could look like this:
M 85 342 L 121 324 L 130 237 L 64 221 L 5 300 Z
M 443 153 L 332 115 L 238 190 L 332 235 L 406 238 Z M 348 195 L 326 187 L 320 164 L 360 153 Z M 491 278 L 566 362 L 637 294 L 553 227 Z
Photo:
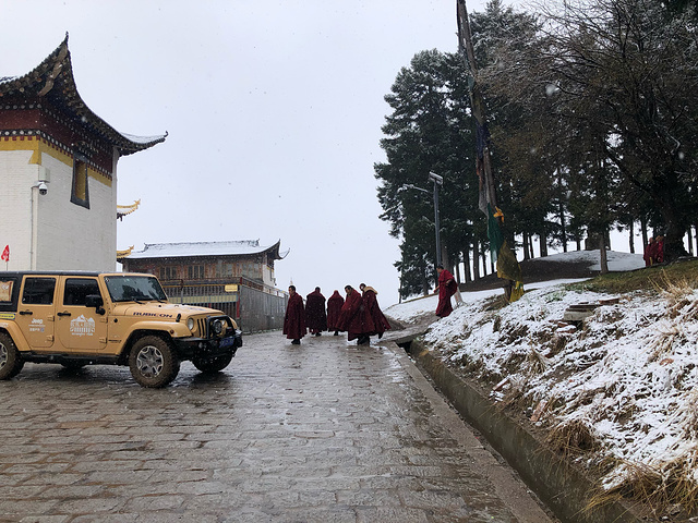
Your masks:
M 157 336 L 144 336 L 129 354 L 131 375 L 143 387 L 159 388 L 179 373 L 179 361 L 170 343 Z

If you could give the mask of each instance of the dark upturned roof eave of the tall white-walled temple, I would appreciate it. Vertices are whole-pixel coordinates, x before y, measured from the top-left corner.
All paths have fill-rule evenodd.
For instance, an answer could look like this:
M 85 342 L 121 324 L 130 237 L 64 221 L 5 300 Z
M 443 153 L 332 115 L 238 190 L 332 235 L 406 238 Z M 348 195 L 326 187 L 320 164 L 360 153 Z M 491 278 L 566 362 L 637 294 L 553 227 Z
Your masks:
M 165 142 L 167 132 L 159 136 L 135 136 L 120 133 L 95 114 L 77 93 L 73 78 L 73 66 L 65 39 L 38 66 L 23 76 L 0 77 L 0 108 L 3 98 L 14 95 L 24 98 L 48 100 L 63 110 L 81 125 L 91 129 L 119 150 L 120 156 L 131 155 Z

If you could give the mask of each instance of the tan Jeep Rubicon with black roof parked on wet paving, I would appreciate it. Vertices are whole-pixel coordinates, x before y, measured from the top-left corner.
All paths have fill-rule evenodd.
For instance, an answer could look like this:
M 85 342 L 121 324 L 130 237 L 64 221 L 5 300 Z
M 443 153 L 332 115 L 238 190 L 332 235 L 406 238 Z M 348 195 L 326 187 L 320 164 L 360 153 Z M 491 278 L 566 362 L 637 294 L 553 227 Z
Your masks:
M 165 387 L 190 360 L 228 366 L 242 336 L 220 311 L 167 301 L 152 275 L 0 271 L 0 379 L 25 362 L 128 365 L 143 387 Z

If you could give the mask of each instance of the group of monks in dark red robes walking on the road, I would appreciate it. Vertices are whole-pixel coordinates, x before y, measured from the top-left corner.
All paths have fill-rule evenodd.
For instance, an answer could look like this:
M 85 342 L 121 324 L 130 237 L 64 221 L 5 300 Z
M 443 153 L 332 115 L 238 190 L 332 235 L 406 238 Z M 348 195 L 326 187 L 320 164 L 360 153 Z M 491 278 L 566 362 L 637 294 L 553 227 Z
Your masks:
M 339 336 L 340 331 L 347 332 L 349 341 L 357 340 L 358 344 L 364 345 L 370 343 L 371 336 L 383 337 L 390 324 L 378 306 L 377 292 L 364 283 L 359 289 L 361 293 L 351 285 L 346 285 L 346 299 L 341 297 L 339 291 L 335 291 L 327 300 L 325 309 L 325 296 L 320 292 L 320 287 L 305 296 L 303 304 L 296 287 L 290 285 L 284 317 L 286 338 L 292 340 L 291 344 L 299 345 L 308 331 L 311 336 L 321 336 L 325 330 L 334 330 L 335 336 Z

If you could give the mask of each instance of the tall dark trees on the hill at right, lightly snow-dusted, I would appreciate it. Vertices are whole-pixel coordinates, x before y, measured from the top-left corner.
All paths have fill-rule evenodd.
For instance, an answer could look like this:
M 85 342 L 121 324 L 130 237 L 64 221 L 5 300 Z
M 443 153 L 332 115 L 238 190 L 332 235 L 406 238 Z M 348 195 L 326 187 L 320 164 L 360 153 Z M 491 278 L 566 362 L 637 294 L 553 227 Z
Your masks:
M 547 1 L 535 12 L 492 0 L 471 13 L 504 234 L 524 259 L 533 239 L 545 256 L 607 246 L 611 230 L 638 227 L 645 244 L 665 236 L 667 259 L 688 254 L 698 221 L 697 21 L 693 3 L 659 0 Z M 471 81 L 459 52 L 422 50 L 385 97 L 387 159 L 374 167 L 382 218 L 401 240 L 402 296 L 433 287 L 433 202 L 413 188 L 430 188 L 429 172 L 444 178 L 444 265 L 461 282 L 492 271 Z

